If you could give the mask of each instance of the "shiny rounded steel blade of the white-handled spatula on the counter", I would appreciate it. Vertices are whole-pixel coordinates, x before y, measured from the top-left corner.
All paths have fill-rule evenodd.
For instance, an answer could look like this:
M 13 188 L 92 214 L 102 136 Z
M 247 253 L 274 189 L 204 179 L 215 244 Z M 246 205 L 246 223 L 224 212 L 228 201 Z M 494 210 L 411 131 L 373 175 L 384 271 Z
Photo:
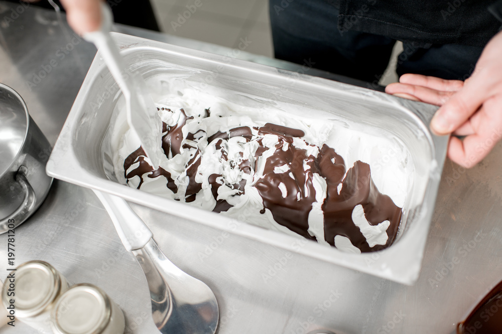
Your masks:
M 218 304 L 206 284 L 169 261 L 154 239 L 132 252 L 145 272 L 152 317 L 162 333 L 213 334 L 216 331 Z

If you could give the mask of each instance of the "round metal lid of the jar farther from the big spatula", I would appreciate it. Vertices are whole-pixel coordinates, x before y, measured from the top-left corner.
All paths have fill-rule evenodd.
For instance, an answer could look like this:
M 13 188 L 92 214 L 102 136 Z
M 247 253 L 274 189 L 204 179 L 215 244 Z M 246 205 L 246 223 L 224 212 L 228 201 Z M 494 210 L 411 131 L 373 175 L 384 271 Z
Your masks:
M 20 318 L 37 316 L 49 310 L 61 291 L 58 271 L 49 263 L 36 260 L 21 264 L 13 272 L 13 281 L 7 277 L 2 290 L 4 305 L 8 305 L 10 299 L 15 299 L 16 315 Z M 15 296 L 9 296 L 12 289 Z

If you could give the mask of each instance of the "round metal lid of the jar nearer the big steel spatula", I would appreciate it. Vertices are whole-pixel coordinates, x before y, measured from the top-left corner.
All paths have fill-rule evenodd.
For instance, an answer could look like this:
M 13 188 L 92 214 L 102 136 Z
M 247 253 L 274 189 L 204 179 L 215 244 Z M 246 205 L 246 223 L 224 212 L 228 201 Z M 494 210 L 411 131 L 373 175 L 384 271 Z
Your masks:
M 64 292 L 52 311 L 57 334 L 100 334 L 111 318 L 111 302 L 106 293 L 92 284 L 76 284 Z

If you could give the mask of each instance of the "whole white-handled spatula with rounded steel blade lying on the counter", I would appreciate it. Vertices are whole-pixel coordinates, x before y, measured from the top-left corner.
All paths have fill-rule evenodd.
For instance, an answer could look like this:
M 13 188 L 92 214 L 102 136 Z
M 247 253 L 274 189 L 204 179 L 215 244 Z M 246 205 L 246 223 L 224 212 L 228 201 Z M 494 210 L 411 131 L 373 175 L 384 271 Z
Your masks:
M 94 192 L 108 211 L 124 247 L 133 252 L 145 273 L 157 328 L 164 334 L 214 334 L 218 303 L 211 288 L 166 258 L 152 231 L 124 199 Z

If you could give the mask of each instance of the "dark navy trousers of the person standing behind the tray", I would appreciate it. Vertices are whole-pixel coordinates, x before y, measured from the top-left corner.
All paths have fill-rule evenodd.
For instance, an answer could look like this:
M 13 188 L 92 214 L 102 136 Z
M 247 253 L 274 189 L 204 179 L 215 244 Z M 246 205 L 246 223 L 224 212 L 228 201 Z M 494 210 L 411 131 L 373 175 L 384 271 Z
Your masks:
M 338 29 L 338 8 L 327 0 L 270 0 L 275 56 L 297 64 L 376 84 L 389 63 L 396 40 Z M 397 73 L 465 80 L 481 47 L 404 42 Z

